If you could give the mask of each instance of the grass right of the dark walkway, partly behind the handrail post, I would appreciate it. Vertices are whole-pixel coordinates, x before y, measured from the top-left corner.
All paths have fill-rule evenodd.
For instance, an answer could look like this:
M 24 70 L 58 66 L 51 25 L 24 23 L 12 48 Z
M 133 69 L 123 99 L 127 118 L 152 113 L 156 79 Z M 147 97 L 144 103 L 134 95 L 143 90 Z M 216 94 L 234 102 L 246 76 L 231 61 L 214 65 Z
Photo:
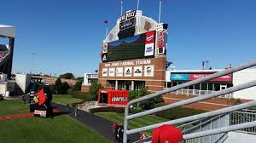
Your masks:
M 96 112 L 97 116 L 107 118 L 110 121 L 116 123 L 124 123 L 124 113 L 116 113 L 116 112 Z M 156 117 L 154 115 L 147 115 L 144 117 L 138 117 L 129 121 L 129 129 L 135 129 L 139 127 L 144 127 L 154 123 L 162 123 L 167 121 L 166 118 Z M 152 131 L 144 132 L 147 135 L 152 134 Z

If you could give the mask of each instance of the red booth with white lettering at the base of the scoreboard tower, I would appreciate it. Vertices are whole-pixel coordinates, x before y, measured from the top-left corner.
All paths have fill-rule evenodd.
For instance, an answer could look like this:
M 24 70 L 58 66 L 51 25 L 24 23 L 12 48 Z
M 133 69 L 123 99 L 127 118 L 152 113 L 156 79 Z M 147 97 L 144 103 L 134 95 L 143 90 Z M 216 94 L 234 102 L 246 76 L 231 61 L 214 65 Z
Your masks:
M 108 104 L 109 106 L 125 106 L 129 102 L 128 97 L 128 90 L 100 89 L 98 95 L 98 104 Z

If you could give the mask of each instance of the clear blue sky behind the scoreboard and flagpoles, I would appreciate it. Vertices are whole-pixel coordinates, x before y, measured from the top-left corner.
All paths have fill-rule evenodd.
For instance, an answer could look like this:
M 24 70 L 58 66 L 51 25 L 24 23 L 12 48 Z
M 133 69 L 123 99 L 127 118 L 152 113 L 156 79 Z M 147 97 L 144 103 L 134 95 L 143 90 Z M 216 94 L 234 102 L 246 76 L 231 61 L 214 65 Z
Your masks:
M 143 14 L 158 20 L 158 0 L 140 0 Z M 137 0 L 124 0 L 124 11 Z M 255 60 L 256 1 L 166 0 L 162 22 L 169 24 L 167 59 L 177 69 L 224 68 Z M 120 16 L 119 0 L 8 0 L 0 24 L 17 27 L 13 72 L 59 75 L 93 72 L 105 35 Z M 32 55 L 34 53 L 34 55 Z

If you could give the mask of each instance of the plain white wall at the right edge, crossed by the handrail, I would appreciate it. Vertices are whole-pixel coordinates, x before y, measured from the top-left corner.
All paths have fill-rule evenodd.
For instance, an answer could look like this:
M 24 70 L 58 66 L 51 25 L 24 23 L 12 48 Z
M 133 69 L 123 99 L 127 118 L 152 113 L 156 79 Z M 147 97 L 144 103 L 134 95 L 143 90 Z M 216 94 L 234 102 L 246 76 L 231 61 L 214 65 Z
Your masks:
M 256 69 L 246 69 L 233 74 L 233 85 L 247 83 L 256 80 Z M 256 87 L 243 89 L 233 94 L 234 98 L 256 100 Z

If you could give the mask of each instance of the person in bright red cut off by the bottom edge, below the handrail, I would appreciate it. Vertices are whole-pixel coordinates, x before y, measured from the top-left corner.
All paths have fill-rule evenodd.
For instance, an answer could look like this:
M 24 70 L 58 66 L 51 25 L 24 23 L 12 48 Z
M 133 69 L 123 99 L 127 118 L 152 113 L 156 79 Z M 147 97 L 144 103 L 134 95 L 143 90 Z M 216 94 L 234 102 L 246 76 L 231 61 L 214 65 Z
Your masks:
M 152 143 L 184 143 L 182 131 L 168 124 L 154 129 L 151 141 Z

